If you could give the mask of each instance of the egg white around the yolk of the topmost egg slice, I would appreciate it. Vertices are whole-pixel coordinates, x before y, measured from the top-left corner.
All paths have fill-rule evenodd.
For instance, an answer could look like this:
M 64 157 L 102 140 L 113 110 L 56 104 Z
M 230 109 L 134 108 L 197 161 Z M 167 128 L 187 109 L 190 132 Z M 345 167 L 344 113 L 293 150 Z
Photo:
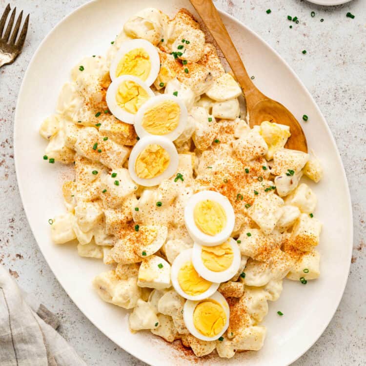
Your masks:
M 136 39 L 136 40 L 130 40 L 130 41 L 123 42 L 121 45 L 121 48 L 118 50 L 115 58 L 111 62 L 111 66 L 109 68 L 109 75 L 110 75 L 112 81 L 117 79 L 116 70 L 117 70 L 118 64 L 122 60 L 123 56 L 126 53 L 128 53 L 136 48 L 143 48 L 148 53 L 149 58 L 150 58 L 150 64 L 151 64 L 150 74 L 146 78 L 146 80 L 143 82 L 145 82 L 147 85 L 150 86 L 155 81 L 155 79 L 158 77 L 160 66 L 156 69 L 155 72 L 153 72 L 153 67 L 152 67 L 153 65 L 160 65 L 160 57 L 159 57 L 158 50 L 149 41 L 142 40 L 142 39 Z M 141 80 L 141 79 L 139 79 L 139 80 Z

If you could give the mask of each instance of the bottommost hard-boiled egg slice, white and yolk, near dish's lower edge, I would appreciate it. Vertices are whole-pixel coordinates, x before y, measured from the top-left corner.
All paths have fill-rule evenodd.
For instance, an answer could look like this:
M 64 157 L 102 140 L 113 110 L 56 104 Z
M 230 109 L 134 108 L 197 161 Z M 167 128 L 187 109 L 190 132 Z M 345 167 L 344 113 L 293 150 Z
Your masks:
M 230 308 L 224 296 L 215 292 L 202 301 L 187 300 L 183 320 L 188 331 L 203 341 L 219 339 L 229 326 Z

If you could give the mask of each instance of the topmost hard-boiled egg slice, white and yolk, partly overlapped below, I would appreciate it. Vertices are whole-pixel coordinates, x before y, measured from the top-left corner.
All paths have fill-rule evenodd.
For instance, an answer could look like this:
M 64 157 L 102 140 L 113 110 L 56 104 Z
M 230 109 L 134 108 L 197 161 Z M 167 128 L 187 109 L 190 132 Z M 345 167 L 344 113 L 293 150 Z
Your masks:
M 151 85 L 158 76 L 160 58 L 157 49 L 146 40 L 123 42 L 111 63 L 109 74 L 114 81 L 122 75 L 132 75 Z

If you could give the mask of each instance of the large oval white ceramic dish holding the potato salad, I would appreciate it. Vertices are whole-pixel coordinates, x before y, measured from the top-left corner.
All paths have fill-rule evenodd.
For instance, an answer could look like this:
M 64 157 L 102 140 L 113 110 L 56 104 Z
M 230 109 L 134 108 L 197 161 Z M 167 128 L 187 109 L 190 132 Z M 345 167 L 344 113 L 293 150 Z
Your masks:
M 35 53 L 20 89 L 15 116 L 14 149 L 20 195 L 41 251 L 66 292 L 106 336 L 129 353 L 154 366 L 242 365 L 284 366 L 300 357 L 330 322 L 344 291 L 352 251 L 352 211 L 344 168 L 319 108 L 293 71 L 264 41 L 239 21 L 222 14 L 224 23 L 243 55 L 250 75 L 268 96 L 284 103 L 301 121 L 310 147 L 325 168 L 325 179 L 314 185 L 319 204 L 315 212 L 324 223 L 319 251 L 321 277 L 306 286 L 285 281 L 280 300 L 270 303 L 265 318 L 267 337 L 259 352 L 244 352 L 231 360 L 208 356 L 195 360 L 178 346 L 149 333 L 131 334 L 127 312 L 103 302 L 91 280 L 106 269 L 101 261 L 81 258 L 73 245 L 51 242 L 48 219 L 63 212 L 61 181 L 66 167 L 42 160 L 46 143 L 38 134 L 42 120 L 53 113 L 62 84 L 72 66 L 85 55 L 104 54 L 127 18 L 144 7 L 169 15 L 187 0 L 96 0 L 62 20 Z M 193 12 L 193 10 L 192 10 Z M 102 15 L 102 16 L 101 16 Z M 311 183 L 310 183 L 311 184 Z M 312 185 L 312 184 L 311 184 Z M 285 315 L 279 317 L 281 310 Z M 77 331 L 77 330 L 76 330 Z M 209 361 L 208 361 L 209 359 Z

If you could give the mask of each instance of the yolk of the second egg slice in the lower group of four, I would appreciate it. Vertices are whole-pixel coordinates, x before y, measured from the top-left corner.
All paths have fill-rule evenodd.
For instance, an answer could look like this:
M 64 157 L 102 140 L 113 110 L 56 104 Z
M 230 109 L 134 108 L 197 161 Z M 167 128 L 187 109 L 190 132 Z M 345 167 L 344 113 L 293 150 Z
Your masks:
M 222 272 L 230 267 L 234 252 L 227 242 L 216 246 L 203 246 L 201 252 L 203 265 L 213 272 Z

